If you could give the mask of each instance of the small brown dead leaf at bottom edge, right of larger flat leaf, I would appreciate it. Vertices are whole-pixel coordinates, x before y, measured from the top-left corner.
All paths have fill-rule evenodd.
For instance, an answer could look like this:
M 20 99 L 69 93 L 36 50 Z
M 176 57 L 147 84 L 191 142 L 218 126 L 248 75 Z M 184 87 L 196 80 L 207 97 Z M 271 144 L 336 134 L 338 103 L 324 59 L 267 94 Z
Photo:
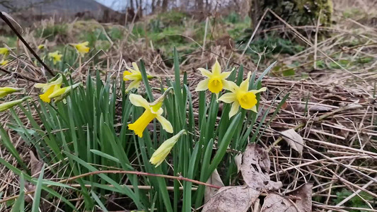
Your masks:
M 278 194 L 268 194 L 262 212 L 301 212 L 292 201 Z

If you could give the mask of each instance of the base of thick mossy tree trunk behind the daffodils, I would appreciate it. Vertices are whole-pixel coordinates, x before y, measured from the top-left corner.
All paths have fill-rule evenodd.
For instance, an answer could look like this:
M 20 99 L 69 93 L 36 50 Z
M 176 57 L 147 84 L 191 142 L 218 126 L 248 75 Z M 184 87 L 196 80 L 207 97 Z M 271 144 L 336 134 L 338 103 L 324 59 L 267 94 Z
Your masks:
M 277 13 L 290 25 L 316 25 L 320 15 L 320 23 L 331 24 L 332 0 L 250 0 L 250 18 L 252 28 L 255 28 L 267 8 Z M 271 13 L 267 13 L 260 28 L 271 28 L 281 25 Z

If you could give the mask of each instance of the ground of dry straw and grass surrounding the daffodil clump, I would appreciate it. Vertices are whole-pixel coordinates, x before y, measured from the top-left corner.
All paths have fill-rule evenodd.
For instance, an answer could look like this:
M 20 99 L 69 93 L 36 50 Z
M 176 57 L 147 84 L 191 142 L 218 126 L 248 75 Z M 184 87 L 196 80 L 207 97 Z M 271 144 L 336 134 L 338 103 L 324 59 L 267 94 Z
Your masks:
M 68 69 L 68 71 L 71 71 L 74 81 L 81 81 L 82 79 L 87 90 L 90 89 L 88 88 L 90 86 L 85 81 L 86 75 L 96 78 L 95 76 L 98 74 L 98 77 L 102 78 L 103 81 L 116 79 L 116 85 L 119 86 L 120 81 L 122 81 L 122 71 L 127 69 L 126 64 L 130 66 L 131 62 L 142 59 L 146 70 L 153 76 L 158 76 L 150 82 L 151 88 L 141 89 L 143 90 L 142 93 L 145 92 L 146 95 L 149 95 L 149 89 L 160 90 L 161 81 L 169 83 L 166 78 L 173 79 L 177 76 L 174 64 L 179 63 L 181 80 L 185 82 L 187 88 L 190 88 L 192 94 L 192 97 L 190 97 L 192 100 L 192 117 L 195 119 L 192 123 L 195 124 L 202 120 L 200 117 L 203 108 L 200 105 L 202 105 L 201 101 L 204 99 L 204 96 L 199 96 L 195 92 L 197 83 L 203 79 L 197 68 L 206 66 L 210 68 L 215 59 L 218 59 L 221 67 L 228 71 L 231 71 L 233 67 L 238 70 L 242 64 L 243 75 L 240 74 L 238 78 L 238 81 L 240 81 L 242 76 L 245 78 L 248 71 L 255 73 L 257 78 L 270 64 L 277 61 L 276 65 L 262 79 L 262 86 L 267 87 L 267 91 L 262 93 L 260 97 L 259 112 L 255 117 L 255 122 L 245 122 L 242 128 L 243 131 L 248 131 L 250 128 L 250 136 L 247 140 L 249 142 L 256 141 L 268 153 L 271 166 L 267 170 L 267 175 L 272 181 L 281 181 L 283 184 L 283 187 L 277 192 L 284 195 L 288 192 L 294 192 L 303 184 L 310 183 L 313 184 L 313 188 L 310 189 L 313 211 L 376 211 L 377 25 L 376 11 L 371 9 L 374 3 L 362 2 L 364 4 L 349 4 L 348 1 L 347 4 L 345 2 L 340 4 L 340 2 L 335 1 L 331 26 L 306 25 L 294 27 L 281 23 L 274 28 L 257 31 L 257 36 L 253 38 L 250 47 L 246 49 L 245 43 L 248 42 L 252 33 L 247 29 L 250 26 L 250 18 L 243 18 L 243 16 L 234 12 L 217 13 L 216 16 L 209 16 L 206 19 L 193 18 L 192 14 L 187 12 L 170 11 L 159 15 L 146 16 L 137 23 L 131 23 L 126 27 L 115 24 L 100 24 L 95 20 L 75 20 L 69 23 L 45 20 L 40 24 L 35 24 L 35 28 L 25 30 L 23 36 L 35 49 L 38 45 L 45 44 L 47 48 L 37 50 L 37 54 L 40 54 L 47 65 L 55 71 Z M 371 5 L 367 6 L 368 4 Z M 321 32 L 318 33 L 319 36 L 316 33 L 313 35 L 315 30 Z M 10 61 L 6 66 L 2 66 L 2 69 L 8 72 L 0 71 L 2 74 L 1 86 L 22 87 L 27 90 L 28 95 L 37 98 L 38 90 L 33 88 L 33 84 L 35 81 L 45 82 L 45 71 L 40 68 L 41 65 L 30 54 L 18 54 L 18 52 L 24 52 L 24 47 L 15 36 L 1 36 L 0 40 L 8 47 L 13 47 L 13 52 L 8 57 Z M 75 50 L 66 44 L 83 41 L 90 43 L 91 52 L 85 58 L 79 59 L 75 56 Z M 179 60 L 173 54 L 173 47 L 177 49 Z M 62 62 L 56 65 L 46 56 L 47 52 L 54 50 L 59 50 L 64 55 Z M 175 60 L 173 60 L 173 57 L 175 57 Z M 96 70 L 100 71 L 96 73 Z M 13 72 L 15 74 L 8 74 Z M 115 94 L 115 92 L 110 92 L 111 87 L 98 87 L 98 89 L 103 93 L 106 93 L 107 90 L 109 96 L 98 95 L 96 97 L 99 99 L 98 105 L 95 105 L 95 107 L 103 110 L 104 117 L 101 117 L 103 118 L 102 121 L 105 120 L 103 123 L 112 123 L 114 126 L 110 126 L 110 129 L 114 132 L 114 135 L 122 138 L 124 108 L 122 109 L 120 102 L 122 102 L 124 95 L 116 93 L 117 95 L 113 96 L 112 94 Z M 103 104 L 104 100 L 108 101 L 109 99 L 112 100 L 110 106 Z M 9 99 L 5 98 L 4 101 L 6 100 Z M 96 99 L 93 97 L 91 100 Z M 40 104 L 40 102 L 36 101 L 33 108 L 37 107 L 37 104 Z M 77 104 L 79 105 L 79 103 Z M 87 102 L 83 101 L 81 104 L 87 104 Z M 112 108 L 112 106 L 116 108 L 114 111 L 112 109 L 109 109 L 110 112 L 106 110 L 107 107 Z M 31 106 L 29 107 L 31 108 Z M 42 107 L 42 104 L 40 107 Z M 52 113 L 55 111 L 47 105 L 42 108 Z M 42 152 L 46 148 L 42 144 L 36 144 L 42 142 L 40 140 L 45 138 L 45 136 L 38 137 L 40 132 L 37 129 L 48 128 L 45 126 L 47 122 L 51 125 L 60 122 L 54 117 L 49 117 L 45 110 L 42 110 L 42 115 L 38 117 L 44 117 L 47 121 L 45 122 L 43 118 L 36 119 L 35 125 L 30 117 L 25 116 L 27 113 L 24 110 L 16 107 L 11 112 L 2 112 L 0 117 L 1 123 L 6 124 L 4 125 L 6 131 L 1 131 L 0 134 L 3 140 L 0 145 L 1 158 L 14 167 L 25 168 L 9 151 L 10 148 L 6 146 L 4 138 L 8 137 L 9 142 L 13 143 L 16 151 L 25 161 L 25 170 L 28 170 L 29 167 L 32 175 L 33 167 L 30 166 L 40 163 L 43 158 L 41 158 L 41 155 L 35 158 L 30 151 L 39 153 L 36 148 L 42 148 Z M 86 110 L 92 111 L 92 106 L 86 105 L 86 108 L 80 110 L 83 114 L 77 112 L 73 114 L 73 117 L 86 116 Z M 223 105 L 219 105 L 219 108 L 215 110 L 220 120 L 223 119 L 223 112 L 226 110 L 228 108 Z M 57 107 L 56 111 L 57 113 L 62 112 L 62 114 L 66 112 L 64 117 L 73 119 L 72 114 L 69 114 L 68 110 L 63 107 Z M 111 115 L 106 116 L 106 112 L 115 114 L 115 119 L 112 119 Z M 213 111 L 210 112 L 213 113 Z M 34 111 L 30 114 L 36 117 L 36 113 Z M 16 114 L 20 114 L 19 119 L 15 118 L 18 117 Z M 254 116 L 250 114 L 249 119 L 253 119 Z M 187 122 L 191 123 L 190 119 L 188 120 Z M 177 122 L 179 123 L 179 120 Z M 10 123 L 23 123 L 26 127 Z M 215 126 L 220 128 L 221 124 L 221 122 L 216 122 L 214 128 L 216 128 Z M 108 126 L 98 127 L 105 129 Z M 197 134 L 200 134 L 202 128 L 196 127 Z M 71 126 L 67 124 L 66 128 L 70 129 Z M 59 129 L 64 129 L 64 127 Z M 46 136 L 51 133 L 51 131 L 48 134 L 46 133 Z M 81 135 L 79 132 L 77 134 Z M 70 136 L 69 134 L 64 135 Z M 79 137 L 79 139 L 86 139 L 86 133 L 82 135 L 84 135 L 83 138 Z M 219 138 L 221 136 L 224 136 L 224 134 L 220 132 Z M 36 143 L 25 142 L 35 141 L 33 140 L 34 137 L 40 140 L 37 140 Z M 109 139 L 109 137 L 105 138 Z M 69 139 L 74 142 L 73 136 Z M 124 145 L 127 144 L 124 143 Z M 131 154 L 134 147 L 129 148 L 131 148 L 129 152 Z M 217 143 L 217 140 L 214 141 L 211 158 L 216 158 L 220 148 L 221 143 Z M 245 151 L 245 148 L 246 145 L 243 148 L 236 148 L 231 144 L 226 153 L 224 152 L 228 160 L 222 161 L 216 168 L 219 177 L 224 182 L 222 186 L 243 185 L 244 182 L 248 184 L 248 179 L 245 179 L 243 173 L 238 173 L 238 165 L 234 159 L 236 155 Z M 190 153 L 195 153 L 194 150 L 193 147 L 190 147 Z M 136 152 L 138 151 L 137 148 Z M 175 153 L 178 154 L 178 150 Z M 136 167 L 136 170 L 147 172 L 149 167 L 146 163 L 139 164 L 140 160 L 144 161 L 144 158 L 141 159 L 141 156 L 137 153 L 135 153 L 136 156 L 131 155 L 129 155 L 129 158 L 132 158 L 132 165 Z M 140 153 L 140 155 L 143 155 L 143 153 Z M 50 160 L 47 169 L 51 169 L 45 178 L 60 179 L 55 175 L 56 173 L 52 168 L 54 167 L 54 163 L 52 163 L 54 158 L 49 158 L 48 154 L 45 156 L 46 160 Z M 37 162 L 33 163 L 33 157 Z M 62 160 L 74 159 L 62 158 Z M 74 161 L 79 163 L 79 160 Z M 56 164 L 59 166 L 60 162 Z M 66 162 L 66 164 L 69 163 Z M 117 165 L 114 161 L 108 164 L 118 169 L 126 169 L 122 165 Z M 4 201 L 4 199 L 11 198 L 19 191 L 20 177 L 16 175 L 17 171 L 9 169 L 9 167 L 4 162 L 0 165 L 0 211 L 11 210 L 14 200 Z M 91 170 L 91 167 L 86 166 L 85 168 Z M 66 171 L 64 167 L 58 169 Z M 106 167 L 98 169 L 105 170 Z M 168 170 L 163 172 L 165 175 L 178 176 L 173 168 L 170 170 L 170 167 L 163 167 L 163 170 Z M 37 172 L 40 172 L 40 168 Z M 69 176 L 79 175 L 74 170 L 72 172 Z M 187 173 L 190 172 L 185 172 L 183 177 L 187 177 L 189 175 Z M 195 173 L 192 175 L 193 178 L 196 176 Z M 129 175 L 120 177 L 114 174 L 109 176 L 114 177 L 119 182 L 127 178 L 122 182 L 129 187 L 132 187 L 134 182 L 140 182 L 141 189 L 150 192 L 144 192 L 144 190 L 140 192 L 143 195 L 148 193 L 148 195 L 145 194 L 145 196 L 148 196 L 146 197 L 148 201 L 152 201 L 151 195 L 158 196 L 158 189 L 156 189 L 156 194 L 153 192 L 152 187 L 157 184 L 153 184 L 153 178 L 149 182 L 146 178 L 140 177 L 139 180 L 136 180 Z M 34 177 L 37 177 L 37 175 Z M 195 179 L 199 180 L 201 177 L 196 176 Z M 91 186 L 86 181 L 71 183 L 70 185 L 75 186 L 76 184 L 78 188 L 79 184 Z M 173 194 L 172 191 L 173 187 L 179 187 L 180 184 L 177 185 L 168 180 L 166 183 L 170 187 L 167 189 L 170 191 L 170 199 L 180 199 L 181 196 L 175 195 L 181 194 L 176 192 Z M 216 184 L 216 181 L 209 183 L 219 185 L 218 182 Z M 185 182 L 184 186 L 186 185 Z M 30 184 L 29 186 L 31 187 L 29 190 L 34 189 L 33 185 Z M 190 192 L 196 191 L 196 189 L 200 190 L 200 187 L 192 187 Z M 62 192 L 63 189 L 59 191 Z M 76 207 L 82 208 L 82 200 L 86 198 L 85 195 L 75 194 L 72 192 L 73 190 L 69 191 L 65 192 L 65 197 L 74 199 Z M 104 202 L 108 207 L 117 208 L 119 206 L 129 210 L 136 208 L 132 201 L 124 195 L 118 196 L 98 192 L 94 196 L 98 197 L 100 194 L 103 194 L 101 198 L 105 199 Z M 262 192 L 262 196 L 267 194 L 269 192 Z M 182 195 L 186 195 L 186 193 Z M 45 202 L 57 203 L 57 199 L 51 196 L 46 197 L 46 199 Z M 117 201 L 117 199 L 120 199 L 120 201 Z M 197 196 L 193 196 L 193 199 L 197 200 Z M 142 201 L 146 200 L 143 199 Z M 163 201 L 165 200 L 158 196 L 156 205 L 158 207 L 163 206 Z M 177 206 L 174 210 L 179 211 L 178 207 L 185 206 L 185 202 L 176 201 L 172 202 L 173 206 Z M 262 201 L 263 199 L 261 199 L 261 204 Z M 27 202 L 30 203 L 30 201 Z M 123 204 L 120 204 L 120 202 Z M 195 204 L 192 204 L 192 208 L 200 208 L 201 203 L 202 200 L 199 201 L 199 204 L 196 201 Z M 49 204 L 44 204 L 44 206 L 50 210 L 56 209 L 50 207 Z M 120 209 L 117 208 L 117 210 Z M 206 208 L 204 210 L 208 211 Z

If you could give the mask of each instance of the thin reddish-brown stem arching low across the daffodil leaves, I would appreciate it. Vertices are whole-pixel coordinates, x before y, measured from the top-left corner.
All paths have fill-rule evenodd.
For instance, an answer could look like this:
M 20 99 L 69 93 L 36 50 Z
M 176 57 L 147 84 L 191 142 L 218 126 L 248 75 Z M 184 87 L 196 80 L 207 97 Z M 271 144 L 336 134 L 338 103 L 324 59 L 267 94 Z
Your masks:
M 181 176 L 180 177 L 175 177 L 175 176 L 170 176 L 170 175 L 159 175 L 159 174 L 152 174 L 152 173 L 147 173 L 147 172 L 125 171 L 125 170 L 102 170 L 102 171 L 88 172 L 88 173 L 85 173 L 85 174 L 82 174 L 82 175 L 77 175 L 77 176 L 74 176 L 74 177 L 69 177 L 67 179 L 62 179 L 58 183 L 65 183 L 65 182 L 72 181 L 74 179 L 79 179 L 79 178 L 87 177 L 87 176 L 90 176 L 90 175 L 105 174 L 105 173 L 108 173 L 108 174 L 126 174 L 126 175 L 145 175 L 145 176 L 151 176 L 151 177 L 163 177 L 163 178 L 167 178 L 167 179 L 176 179 L 178 181 L 183 180 L 183 181 L 192 182 L 192 183 L 195 183 L 195 184 L 202 184 L 202 185 L 204 185 L 206 187 L 212 187 L 212 188 L 215 188 L 215 189 L 220 189 L 221 188 L 221 187 L 218 187 L 218 186 L 216 186 L 214 184 L 208 184 L 208 183 L 205 183 L 205 182 L 197 181 L 195 179 L 189 179 L 189 178 L 181 177 Z M 35 190 L 30 191 L 30 192 L 25 192 L 25 194 L 33 194 L 34 192 L 35 192 Z M 2 199 L 2 200 L 0 200 L 0 204 L 3 204 L 4 202 L 10 201 L 12 199 L 16 199 L 16 198 L 18 198 L 18 196 L 19 195 L 15 195 L 15 196 L 11 196 L 11 197 L 6 198 L 6 199 Z

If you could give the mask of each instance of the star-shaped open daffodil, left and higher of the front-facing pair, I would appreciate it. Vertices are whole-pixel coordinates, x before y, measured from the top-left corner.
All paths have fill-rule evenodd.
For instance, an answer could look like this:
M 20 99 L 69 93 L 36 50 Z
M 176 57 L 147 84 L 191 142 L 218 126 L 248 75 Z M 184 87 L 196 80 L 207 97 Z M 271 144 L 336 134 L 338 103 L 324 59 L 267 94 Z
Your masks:
M 217 59 L 214 66 L 212 66 L 212 72 L 203 68 L 199 68 L 198 70 L 207 78 L 197 84 L 197 88 L 195 89 L 196 91 L 208 89 L 211 91 L 211 93 L 215 93 L 216 97 L 218 97 L 220 91 L 223 90 L 223 88 L 227 88 L 228 82 L 225 79 L 228 78 L 231 72 L 228 71 L 221 73 L 221 66 Z

